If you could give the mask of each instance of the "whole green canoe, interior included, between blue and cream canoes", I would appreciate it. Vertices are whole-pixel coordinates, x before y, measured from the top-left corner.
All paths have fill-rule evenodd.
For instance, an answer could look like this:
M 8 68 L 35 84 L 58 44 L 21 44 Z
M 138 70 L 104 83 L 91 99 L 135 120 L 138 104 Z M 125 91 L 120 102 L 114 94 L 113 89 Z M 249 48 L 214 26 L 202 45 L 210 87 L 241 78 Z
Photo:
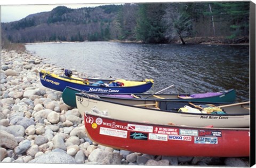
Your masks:
M 115 101 L 115 102 L 122 102 L 125 101 L 136 101 L 136 100 L 143 100 L 143 98 L 147 98 L 151 94 L 104 94 L 104 93 L 92 93 L 82 90 L 77 90 L 72 87 L 67 86 L 62 93 L 62 100 L 66 105 L 70 107 L 77 107 L 76 106 L 76 93 L 89 93 L 89 94 L 97 94 L 101 99 Z M 218 93 L 218 94 L 217 94 Z M 193 98 L 196 95 L 197 98 Z M 208 95 L 208 97 L 204 97 Z M 209 96 L 211 95 L 211 96 Z M 197 94 L 154 94 L 147 98 L 147 100 L 161 100 L 161 101 L 197 101 L 197 102 L 223 102 L 223 103 L 232 103 L 236 99 L 236 92 L 234 89 L 216 92 L 216 93 L 197 93 Z

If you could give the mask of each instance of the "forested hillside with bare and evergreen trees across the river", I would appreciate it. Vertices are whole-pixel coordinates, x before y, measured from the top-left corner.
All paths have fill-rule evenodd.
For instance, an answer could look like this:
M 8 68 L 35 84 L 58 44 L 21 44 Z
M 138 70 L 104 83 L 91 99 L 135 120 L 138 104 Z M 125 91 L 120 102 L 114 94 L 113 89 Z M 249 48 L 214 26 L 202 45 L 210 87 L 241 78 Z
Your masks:
M 13 43 L 51 41 L 141 41 L 186 43 L 186 37 L 249 38 L 249 2 L 140 3 L 31 14 L 1 23 Z

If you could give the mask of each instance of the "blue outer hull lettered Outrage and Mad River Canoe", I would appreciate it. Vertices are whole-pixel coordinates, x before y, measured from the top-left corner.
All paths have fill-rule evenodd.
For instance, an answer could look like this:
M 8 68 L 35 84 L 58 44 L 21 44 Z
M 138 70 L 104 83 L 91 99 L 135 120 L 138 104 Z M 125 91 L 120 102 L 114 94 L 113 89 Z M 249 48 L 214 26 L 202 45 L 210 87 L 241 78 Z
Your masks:
M 124 87 L 105 87 L 105 86 L 93 86 L 84 85 L 79 83 L 73 83 L 61 80 L 59 78 L 52 77 L 51 75 L 39 72 L 40 80 L 43 86 L 50 89 L 63 91 L 66 86 L 73 87 L 78 90 L 91 91 L 91 92 L 105 92 L 105 93 L 143 93 L 148 91 L 153 83 L 147 82 L 146 84 L 136 86 L 124 86 Z M 102 81 L 98 79 L 98 81 Z

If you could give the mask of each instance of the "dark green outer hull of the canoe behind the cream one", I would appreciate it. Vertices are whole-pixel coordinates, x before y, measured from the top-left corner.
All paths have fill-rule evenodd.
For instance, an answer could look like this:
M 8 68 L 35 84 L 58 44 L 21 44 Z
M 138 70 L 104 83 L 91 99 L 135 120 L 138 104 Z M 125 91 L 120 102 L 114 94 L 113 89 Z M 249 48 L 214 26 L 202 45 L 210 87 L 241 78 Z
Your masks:
M 93 93 L 93 92 L 86 92 L 83 90 L 77 90 L 73 87 L 67 86 L 65 90 L 63 90 L 62 93 L 62 99 L 63 101 L 70 107 L 76 107 L 76 93 L 91 93 L 91 94 L 97 94 L 99 97 L 103 100 L 109 100 L 109 101 L 115 101 L 115 102 L 121 102 L 121 103 L 127 103 L 129 104 L 129 101 L 136 100 L 134 98 L 121 98 L 122 95 L 124 94 L 110 94 L 110 95 L 116 95 L 114 96 L 109 96 L 108 94 L 103 94 L 103 93 Z M 170 101 L 199 101 L 199 102 L 234 102 L 236 93 L 234 89 L 228 90 L 228 91 L 223 91 L 226 92 L 222 95 L 214 96 L 214 97 L 209 97 L 209 98 L 195 98 L 195 99 L 178 99 L 178 94 L 156 94 L 158 97 L 165 98 L 165 100 L 170 100 Z M 147 97 L 150 94 L 137 94 L 141 95 L 142 97 Z M 142 98 L 143 99 L 143 98 Z M 156 99 L 156 97 L 149 97 L 148 99 Z M 138 99 L 137 99 L 138 100 Z

